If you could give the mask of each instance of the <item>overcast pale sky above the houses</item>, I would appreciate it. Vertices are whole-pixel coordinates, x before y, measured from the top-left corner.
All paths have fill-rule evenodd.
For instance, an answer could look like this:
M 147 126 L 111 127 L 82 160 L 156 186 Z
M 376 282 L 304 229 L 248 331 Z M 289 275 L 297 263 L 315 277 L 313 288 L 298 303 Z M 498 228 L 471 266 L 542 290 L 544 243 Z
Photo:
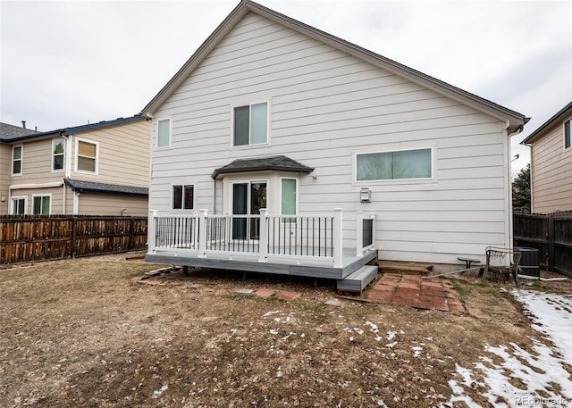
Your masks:
M 140 112 L 239 0 L 0 0 L 0 121 L 38 130 Z M 531 117 L 572 100 L 570 1 L 259 0 Z

